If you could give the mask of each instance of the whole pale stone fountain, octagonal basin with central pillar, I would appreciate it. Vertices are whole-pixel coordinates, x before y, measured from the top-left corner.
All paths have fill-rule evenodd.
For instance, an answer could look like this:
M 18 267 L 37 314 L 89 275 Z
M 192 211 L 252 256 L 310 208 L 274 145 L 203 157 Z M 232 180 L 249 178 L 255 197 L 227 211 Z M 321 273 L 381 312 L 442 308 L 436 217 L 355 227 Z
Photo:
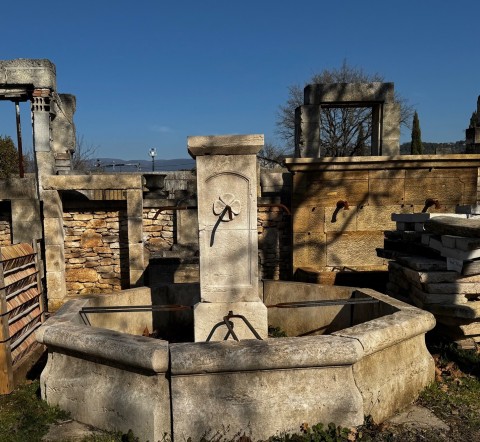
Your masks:
M 37 332 L 48 347 L 42 397 L 81 422 L 150 441 L 267 439 L 304 422 L 360 425 L 367 415 L 382 422 L 413 401 L 434 377 L 425 346 L 433 316 L 368 289 L 259 283 L 263 136 L 188 144 L 197 160 L 200 302 L 182 308 L 194 310 L 195 342 L 142 336 L 159 307 L 148 287 L 73 299 Z M 267 324 L 290 337 L 267 338 Z

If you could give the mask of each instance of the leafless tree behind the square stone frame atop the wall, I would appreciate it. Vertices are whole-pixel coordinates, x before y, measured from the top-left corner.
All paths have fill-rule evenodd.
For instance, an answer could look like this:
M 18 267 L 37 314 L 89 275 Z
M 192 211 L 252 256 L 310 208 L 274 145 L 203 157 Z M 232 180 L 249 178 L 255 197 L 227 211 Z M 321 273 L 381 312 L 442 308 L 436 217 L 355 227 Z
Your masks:
M 378 73 L 367 74 L 361 68 L 343 62 L 339 69 L 324 69 L 314 74 L 306 84 L 314 83 L 371 83 L 384 82 Z M 277 114 L 277 134 L 289 146 L 295 142 L 295 109 L 303 104 L 303 87 L 296 84 L 288 88 L 288 99 L 279 107 Z M 400 105 L 400 124 L 410 127 L 413 107 L 407 100 L 395 93 L 395 101 Z M 357 154 L 359 130 L 362 128 L 364 141 L 372 135 L 371 108 L 325 108 L 320 113 L 320 143 L 325 156 L 349 156 Z

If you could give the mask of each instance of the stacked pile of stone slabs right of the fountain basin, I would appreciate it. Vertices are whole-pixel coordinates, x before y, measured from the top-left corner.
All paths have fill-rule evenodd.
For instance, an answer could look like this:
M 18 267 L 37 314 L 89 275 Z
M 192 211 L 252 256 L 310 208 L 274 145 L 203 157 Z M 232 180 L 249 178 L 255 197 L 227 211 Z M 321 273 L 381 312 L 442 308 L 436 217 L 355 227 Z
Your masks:
M 377 254 L 390 259 L 387 294 L 433 313 L 436 332 L 480 344 L 480 206 L 455 214 L 392 214 Z

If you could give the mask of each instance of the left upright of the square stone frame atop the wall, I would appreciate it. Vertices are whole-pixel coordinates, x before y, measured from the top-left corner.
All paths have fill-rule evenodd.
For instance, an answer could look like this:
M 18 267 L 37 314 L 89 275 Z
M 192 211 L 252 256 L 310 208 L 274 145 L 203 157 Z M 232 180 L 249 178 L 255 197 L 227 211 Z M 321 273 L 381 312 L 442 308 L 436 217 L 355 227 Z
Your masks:
M 295 109 L 295 157 L 319 158 L 320 106 L 303 105 Z

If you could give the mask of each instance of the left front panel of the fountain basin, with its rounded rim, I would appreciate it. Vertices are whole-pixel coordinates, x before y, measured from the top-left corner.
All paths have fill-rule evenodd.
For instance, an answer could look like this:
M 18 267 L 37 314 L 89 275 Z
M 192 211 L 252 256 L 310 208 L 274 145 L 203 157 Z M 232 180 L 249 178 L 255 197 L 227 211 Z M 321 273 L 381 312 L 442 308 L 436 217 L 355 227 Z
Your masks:
M 49 355 L 42 372 L 42 397 L 49 404 L 89 425 L 132 429 L 142 440 L 170 434 L 167 342 L 72 323 L 47 323 L 37 339 L 64 349 Z M 76 356 L 84 352 L 95 362 Z

